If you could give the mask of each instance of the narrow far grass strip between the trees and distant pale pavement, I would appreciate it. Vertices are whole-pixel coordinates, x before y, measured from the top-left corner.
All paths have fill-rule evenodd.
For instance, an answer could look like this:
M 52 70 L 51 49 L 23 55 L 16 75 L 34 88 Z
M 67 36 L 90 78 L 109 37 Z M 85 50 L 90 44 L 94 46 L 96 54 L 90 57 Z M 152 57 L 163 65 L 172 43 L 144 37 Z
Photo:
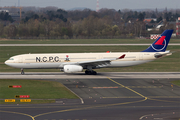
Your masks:
M 0 39 L 0 44 L 123 44 L 123 43 L 153 43 L 151 39 L 47 39 L 21 40 Z M 180 39 L 171 39 L 170 43 L 180 43 Z

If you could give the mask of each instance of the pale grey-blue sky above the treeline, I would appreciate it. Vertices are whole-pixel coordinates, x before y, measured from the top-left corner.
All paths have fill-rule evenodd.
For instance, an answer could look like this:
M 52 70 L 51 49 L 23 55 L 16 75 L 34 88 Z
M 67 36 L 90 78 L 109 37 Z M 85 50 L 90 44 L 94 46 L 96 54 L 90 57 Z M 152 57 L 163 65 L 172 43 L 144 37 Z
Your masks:
M 55 6 L 65 10 L 85 7 L 96 10 L 97 0 L 0 0 L 0 6 Z M 180 9 L 180 0 L 99 0 L 99 8 L 109 9 Z

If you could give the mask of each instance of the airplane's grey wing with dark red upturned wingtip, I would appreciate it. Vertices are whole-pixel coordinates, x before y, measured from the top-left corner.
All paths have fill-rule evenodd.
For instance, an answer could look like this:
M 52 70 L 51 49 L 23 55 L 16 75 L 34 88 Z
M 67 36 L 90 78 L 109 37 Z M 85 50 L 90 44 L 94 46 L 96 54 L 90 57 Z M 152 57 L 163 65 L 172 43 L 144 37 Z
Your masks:
M 99 66 L 99 67 L 103 67 L 103 66 L 110 65 L 111 61 L 118 60 L 118 59 L 123 59 L 125 56 L 126 55 L 123 54 L 122 56 L 120 56 L 118 58 L 98 59 L 98 60 L 92 60 L 92 61 L 82 61 L 82 62 L 78 62 L 76 64 L 81 65 L 81 66 Z

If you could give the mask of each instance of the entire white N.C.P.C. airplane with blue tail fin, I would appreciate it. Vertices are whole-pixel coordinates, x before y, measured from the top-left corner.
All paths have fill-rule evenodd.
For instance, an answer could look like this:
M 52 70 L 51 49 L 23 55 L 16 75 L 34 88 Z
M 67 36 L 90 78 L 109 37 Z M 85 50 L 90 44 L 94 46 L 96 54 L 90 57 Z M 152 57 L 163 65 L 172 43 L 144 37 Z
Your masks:
M 96 75 L 93 69 L 127 67 L 172 55 L 166 51 L 173 30 L 165 30 L 147 49 L 141 52 L 104 52 L 104 53 L 48 53 L 22 54 L 11 57 L 5 64 L 23 69 L 60 69 L 64 73 L 82 72 Z

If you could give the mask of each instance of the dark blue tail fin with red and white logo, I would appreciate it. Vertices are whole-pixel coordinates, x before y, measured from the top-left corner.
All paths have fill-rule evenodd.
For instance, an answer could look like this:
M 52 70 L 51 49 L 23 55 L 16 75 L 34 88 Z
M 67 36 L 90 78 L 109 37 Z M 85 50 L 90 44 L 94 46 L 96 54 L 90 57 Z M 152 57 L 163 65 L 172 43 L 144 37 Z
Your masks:
M 165 30 L 157 40 L 142 52 L 165 52 L 173 30 Z

